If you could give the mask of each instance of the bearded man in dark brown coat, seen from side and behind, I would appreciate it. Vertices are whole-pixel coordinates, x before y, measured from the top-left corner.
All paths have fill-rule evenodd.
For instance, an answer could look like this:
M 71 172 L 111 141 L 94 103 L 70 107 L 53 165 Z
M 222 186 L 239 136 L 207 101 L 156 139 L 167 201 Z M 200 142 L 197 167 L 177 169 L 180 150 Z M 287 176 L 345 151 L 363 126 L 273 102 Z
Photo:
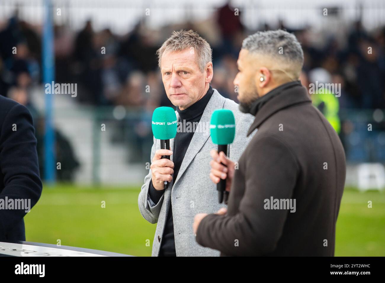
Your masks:
M 345 153 L 298 80 L 301 45 L 283 30 L 258 32 L 237 64 L 240 108 L 255 116 L 248 135 L 258 131 L 239 164 L 212 151 L 210 177 L 227 179 L 228 210 L 197 214 L 196 241 L 223 256 L 333 256 Z

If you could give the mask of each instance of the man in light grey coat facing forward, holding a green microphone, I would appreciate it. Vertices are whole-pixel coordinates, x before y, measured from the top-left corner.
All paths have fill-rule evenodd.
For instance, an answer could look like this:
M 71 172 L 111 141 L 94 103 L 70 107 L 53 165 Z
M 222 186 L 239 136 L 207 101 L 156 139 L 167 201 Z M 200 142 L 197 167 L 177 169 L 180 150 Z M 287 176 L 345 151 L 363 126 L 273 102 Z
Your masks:
M 217 147 L 210 139 L 211 114 L 223 108 L 233 111 L 236 135 L 228 154 L 236 161 L 249 141 L 246 131 L 253 116 L 241 113 L 238 104 L 210 86 L 211 48 L 197 33 L 173 32 L 157 53 L 164 89 L 176 106 L 178 130 L 170 151 L 160 149 L 154 138 L 150 170 L 139 194 L 142 216 L 157 223 L 152 256 L 219 256 L 199 246 L 192 232 L 196 213 L 214 213 L 222 206 L 209 178 L 210 151 Z M 170 160 L 162 158 L 166 155 Z M 170 182 L 167 189 L 164 181 Z

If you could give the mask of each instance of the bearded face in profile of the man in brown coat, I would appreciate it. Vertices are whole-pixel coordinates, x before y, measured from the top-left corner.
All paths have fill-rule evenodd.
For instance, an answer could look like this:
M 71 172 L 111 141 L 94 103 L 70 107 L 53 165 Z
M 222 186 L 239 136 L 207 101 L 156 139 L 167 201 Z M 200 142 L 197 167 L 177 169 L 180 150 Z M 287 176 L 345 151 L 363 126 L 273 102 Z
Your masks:
M 238 85 L 238 100 L 242 104 L 250 104 L 258 98 L 255 85 L 256 67 L 255 60 L 248 54 L 249 51 L 241 49 L 237 60 L 238 73 L 234 79 L 234 85 Z

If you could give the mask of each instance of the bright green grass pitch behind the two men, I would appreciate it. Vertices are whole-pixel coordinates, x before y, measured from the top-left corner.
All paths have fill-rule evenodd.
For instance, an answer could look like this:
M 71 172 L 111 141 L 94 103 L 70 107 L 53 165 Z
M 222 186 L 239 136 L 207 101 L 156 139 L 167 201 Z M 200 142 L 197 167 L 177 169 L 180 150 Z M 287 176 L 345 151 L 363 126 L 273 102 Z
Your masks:
M 155 224 L 139 213 L 140 186 L 44 186 L 25 216 L 27 241 L 151 256 Z M 105 201 L 105 208 L 102 208 Z M 368 208 L 372 201 L 372 208 Z M 385 256 L 385 193 L 345 189 L 336 228 L 336 256 Z

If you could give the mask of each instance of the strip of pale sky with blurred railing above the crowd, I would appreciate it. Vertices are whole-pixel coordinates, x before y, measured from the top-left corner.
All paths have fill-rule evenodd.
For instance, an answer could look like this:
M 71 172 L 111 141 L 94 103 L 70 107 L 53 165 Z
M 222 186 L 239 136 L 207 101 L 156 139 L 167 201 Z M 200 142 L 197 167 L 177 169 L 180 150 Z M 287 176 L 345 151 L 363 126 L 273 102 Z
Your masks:
M 55 16 L 56 24 L 67 24 L 78 30 L 87 19 L 91 19 L 96 30 L 109 27 L 114 33 L 129 32 L 139 20 L 157 29 L 159 27 L 182 23 L 185 21 L 203 20 L 213 17 L 215 11 L 226 3 L 226 0 L 52 0 L 61 15 Z M 5 22 L 15 9 L 19 17 L 35 25 L 42 23 L 44 0 L 0 0 L 0 23 Z M 383 0 L 233 0 L 233 7 L 241 12 L 241 18 L 247 28 L 254 30 L 264 23 L 275 27 L 282 19 L 291 28 L 306 25 L 316 26 L 323 30 L 330 27 L 339 28 L 335 22 L 349 25 L 362 16 L 365 28 L 372 29 L 385 24 L 385 2 Z M 340 8 L 338 15 L 322 15 L 323 8 Z M 146 16 L 149 8 L 150 16 Z M 332 25 L 330 25 L 332 23 Z

